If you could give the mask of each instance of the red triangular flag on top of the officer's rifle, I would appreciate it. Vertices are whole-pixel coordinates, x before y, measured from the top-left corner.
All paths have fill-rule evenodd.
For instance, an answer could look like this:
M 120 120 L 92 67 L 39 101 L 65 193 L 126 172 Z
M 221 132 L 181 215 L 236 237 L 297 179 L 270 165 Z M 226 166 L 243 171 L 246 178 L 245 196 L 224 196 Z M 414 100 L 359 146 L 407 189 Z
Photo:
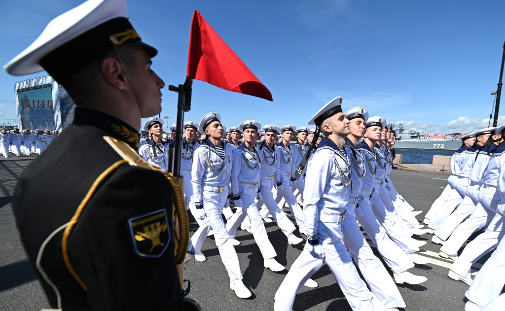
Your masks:
M 196 10 L 191 22 L 186 76 L 230 91 L 273 101 L 268 88 Z

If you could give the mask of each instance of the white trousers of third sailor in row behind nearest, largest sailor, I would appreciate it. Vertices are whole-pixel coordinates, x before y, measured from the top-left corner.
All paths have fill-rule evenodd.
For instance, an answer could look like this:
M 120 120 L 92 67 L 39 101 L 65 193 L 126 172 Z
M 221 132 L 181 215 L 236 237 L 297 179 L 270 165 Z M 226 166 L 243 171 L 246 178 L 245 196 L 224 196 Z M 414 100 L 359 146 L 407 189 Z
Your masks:
M 389 238 L 386 230 L 375 218 L 370 206 L 369 196 L 360 194 L 359 208 L 363 212 L 363 217 L 357 217 L 357 220 L 393 273 L 399 274 L 414 267 L 414 263 L 407 254 Z

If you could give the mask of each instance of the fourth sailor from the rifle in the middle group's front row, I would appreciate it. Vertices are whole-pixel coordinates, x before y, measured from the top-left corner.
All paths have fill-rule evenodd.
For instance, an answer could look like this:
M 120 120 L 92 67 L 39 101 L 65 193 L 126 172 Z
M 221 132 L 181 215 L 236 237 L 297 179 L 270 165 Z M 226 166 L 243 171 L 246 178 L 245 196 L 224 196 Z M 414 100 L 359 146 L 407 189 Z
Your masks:
M 277 193 L 275 196 L 275 202 L 279 203 L 281 199 L 284 197 L 286 203 L 289 206 L 289 210 L 291 211 L 291 215 L 294 216 L 296 224 L 298 225 L 298 230 L 300 233 L 305 234 L 305 220 L 304 220 L 304 212 L 301 210 L 299 203 L 296 201 L 296 197 L 291 190 L 291 183 L 294 176 L 291 175 L 293 172 L 292 167 L 292 152 L 291 147 L 289 146 L 289 142 L 291 141 L 291 137 L 293 137 L 294 125 L 288 124 L 281 127 L 281 139 L 277 144 L 276 148 L 276 157 L 279 158 L 279 174 L 281 175 L 281 186 L 277 186 Z

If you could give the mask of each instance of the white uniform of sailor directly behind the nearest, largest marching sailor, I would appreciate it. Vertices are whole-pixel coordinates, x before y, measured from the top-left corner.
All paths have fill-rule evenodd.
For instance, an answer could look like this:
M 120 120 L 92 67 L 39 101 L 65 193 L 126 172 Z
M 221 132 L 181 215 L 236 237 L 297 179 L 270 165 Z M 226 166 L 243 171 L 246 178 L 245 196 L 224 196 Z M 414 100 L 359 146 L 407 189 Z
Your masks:
M 360 268 L 370 290 L 386 308 L 405 307 L 405 301 L 389 276 L 382 262 L 368 245 L 356 221 L 355 210 L 359 208 L 359 195 L 366 173 L 365 163 L 356 146 L 346 139 L 344 150 L 349 160 L 352 186 L 348 187 L 349 201 L 342 221 L 343 242 L 355 263 Z

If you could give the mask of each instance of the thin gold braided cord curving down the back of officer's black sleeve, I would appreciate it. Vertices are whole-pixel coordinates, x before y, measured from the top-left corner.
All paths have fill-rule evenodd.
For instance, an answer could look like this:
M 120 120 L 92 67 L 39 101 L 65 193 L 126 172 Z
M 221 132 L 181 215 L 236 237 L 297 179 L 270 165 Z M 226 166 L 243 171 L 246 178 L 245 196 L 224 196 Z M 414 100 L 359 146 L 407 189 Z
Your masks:
M 128 163 L 126 160 L 120 160 L 120 161 L 114 163 L 107 170 L 105 170 L 102 174 L 100 174 L 100 176 L 98 176 L 98 178 L 94 181 L 94 183 L 91 186 L 91 188 L 89 189 L 88 193 L 86 194 L 86 196 L 82 200 L 81 204 L 79 204 L 77 211 L 75 211 L 75 214 L 72 217 L 72 219 L 70 220 L 67 228 L 65 228 L 65 232 L 63 232 L 63 240 L 62 240 L 63 260 L 65 261 L 65 265 L 67 266 L 67 269 L 70 271 L 70 273 L 72 274 L 74 279 L 77 281 L 77 283 L 79 283 L 79 285 L 81 285 L 81 287 L 85 291 L 88 290 L 86 285 L 84 284 L 84 282 L 82 282 L 81 278 L 77 275 L 77 273 L 74 270 L 74 267 L 72 267 L 72 263 L 70 262 L 70 257 L 68 255 L 68 238 L 70 236 L 70 232 L 72 231 L 72 228 L 75 226 L 75 224 L 77 224 L 77 221 L 79 221 L 79 216 L 81 215 L 82 210 L 84 210 L 84 206 L 86 206 L 87 202 L 89 201 L 89 199 L 91 198 L 91 196 L 95 192 L 96 188 L 100 185 L 100 183 L 102 183 L 102 181 L 104 181 L 104 179 L 109 174 L 111 174 L 115 169 L 117 169 L 118 167 L 120 167 L 121 165 L 126 164 L 126 163 Z

